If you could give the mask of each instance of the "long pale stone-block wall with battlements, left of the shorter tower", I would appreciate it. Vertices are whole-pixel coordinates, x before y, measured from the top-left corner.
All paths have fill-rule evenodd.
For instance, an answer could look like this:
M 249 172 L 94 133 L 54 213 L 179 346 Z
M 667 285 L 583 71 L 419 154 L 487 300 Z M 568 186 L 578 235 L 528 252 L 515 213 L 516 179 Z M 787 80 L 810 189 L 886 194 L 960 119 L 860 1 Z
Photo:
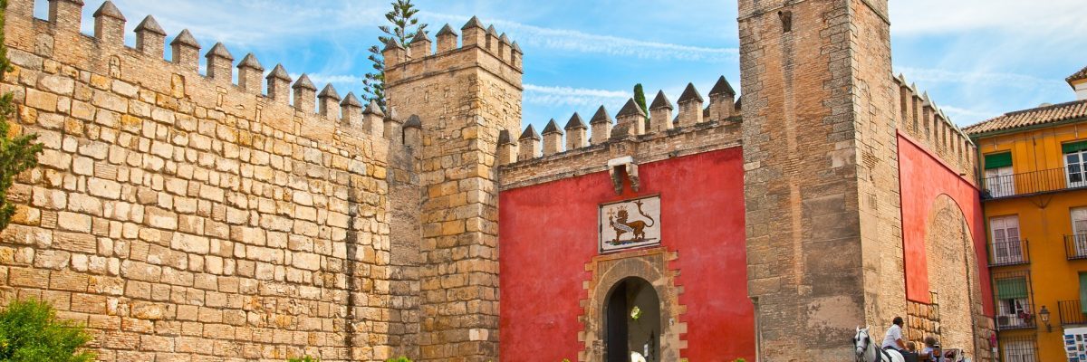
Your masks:
M 400 128 L 379 132 L 379 116 L 330 86 L 317 113 L 304 75 L 289 104 L 282 66 L 265 96 L 252 54 L 234 85 L 223 45 L 201 75 L 187 30 L 167 62 L 150 16 L 128 48 L 110 2 L 95 37 L 78 33 L 82 1 L 50 1 L 48 21 L 33 8 L 13 0 L 4 28 L 15 68 L 0 90 L 15 95 L 16 132 L 46 149 L 12 189 L 5 300 L 52 302 L 90 327 L 102 360 L 378 361 L 405 350 L 414 321 L 399 308 L 410 300 L 390 280 L 411 275 L 390 267 L 390 190 L 411 189 L 415 158 Z

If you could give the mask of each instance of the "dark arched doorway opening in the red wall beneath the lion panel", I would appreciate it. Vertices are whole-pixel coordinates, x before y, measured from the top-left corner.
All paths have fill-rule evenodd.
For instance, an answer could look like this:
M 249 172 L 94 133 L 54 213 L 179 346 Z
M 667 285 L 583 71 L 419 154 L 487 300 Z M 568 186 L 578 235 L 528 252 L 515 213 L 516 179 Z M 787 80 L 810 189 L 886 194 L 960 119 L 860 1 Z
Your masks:
M 617 283 L 608 294 L 604 315 L 605 361 L 630 362 L 634 353 L 660 361 L 661 301 L 649 282 L 632 277 Z

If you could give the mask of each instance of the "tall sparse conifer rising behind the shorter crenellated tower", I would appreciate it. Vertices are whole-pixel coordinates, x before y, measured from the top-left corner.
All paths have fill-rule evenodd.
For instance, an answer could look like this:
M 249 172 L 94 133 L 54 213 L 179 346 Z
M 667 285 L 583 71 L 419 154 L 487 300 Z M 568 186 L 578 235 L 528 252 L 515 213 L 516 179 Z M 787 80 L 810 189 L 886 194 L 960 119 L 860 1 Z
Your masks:
M 396 0 L 396 2 L 390 3 L 392 10 L 385 13 L 385 20 L 391 24 L 378 26 L 377 28 L 382 30 L 385 35 L 377 37 L 377 45 L 370 47 L 370 59 L 373 62 L 374 72 L 366 73 L 366 78 L 363 79 L 363 91 L 367 101 L 377 101 L 377 105 L 382 107 L 385 111 L 385 58 L 382 57 L 382 49 L 389 39 L 396 39 L 398 42 L 404 46 L 404 48 L 411 46 L 411 40 L 415 37 L 415 34 L 420 32 L 426 32 L 426 24 L 420 24 L 418 17 L 415 14 L 418 13 L 418 9 L 411 3 L 411 0 Z

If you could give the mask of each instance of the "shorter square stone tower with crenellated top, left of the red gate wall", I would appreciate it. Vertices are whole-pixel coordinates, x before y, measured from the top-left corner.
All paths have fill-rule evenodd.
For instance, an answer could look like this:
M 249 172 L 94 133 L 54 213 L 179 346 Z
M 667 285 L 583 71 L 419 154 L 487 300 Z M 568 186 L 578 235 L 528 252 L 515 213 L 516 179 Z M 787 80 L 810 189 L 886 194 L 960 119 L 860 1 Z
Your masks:
M 461 32 L 458 47 L 458 34 L 446 25 L 434 54 L 426 35 L 410 50 L 391 42 L 384 51 L 387 113 L 393 124 L 409 120 L 402 141 L 418 158 L 422 238 L 393 225 L 391 239 L 417 244 L 417 269 L 405 273 L 418 276 L 417 355 L 424 361 L 498 360 L 496 155 L 499 133 L 521 129 L 522 54 L 475 17 Z M 409 126 L 421 137 L 409 137 Z

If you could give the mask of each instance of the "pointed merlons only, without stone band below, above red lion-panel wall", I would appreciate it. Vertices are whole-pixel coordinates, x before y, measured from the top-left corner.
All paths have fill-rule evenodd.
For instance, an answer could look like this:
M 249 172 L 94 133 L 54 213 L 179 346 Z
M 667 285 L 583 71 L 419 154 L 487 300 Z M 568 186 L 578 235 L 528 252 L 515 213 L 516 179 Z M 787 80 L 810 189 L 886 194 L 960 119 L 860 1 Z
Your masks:
M 537 134 L 529 125 L 516 139 L 513 138 L 512 132 L 503 130 L 499 137 L 498 162 L 500 165 L 509 165 L 534 162 L 541 157 L 549 160 L 577 158 L 578 153 L 595 152 L 602 149 L 601 145 L 609 142 L 641 141 L 680 135 L 690 137 L 694 129 L 739 124 L 740 103 L 735 98 L 736 91 L 722 76 L 710 90 L 710 103 L 704 108 L 701 93 L 694 84 L 687 84 L 678 99 L 679 112 L 674 116 L 672 112 L 675 105 L 663 90 L 658 91 L 649 105 L 648 128 L 645 122 L 646 114 L 635 103 L 634 98 L 630 98 L 615 114 L 615 122 L 612 121 L 608 110 L 600 105 L 589 122 L 591 132 L 590 126 L 585 125 L 577 113 L 574 113 L 562 128 L 552 118 L 541 133 Z

